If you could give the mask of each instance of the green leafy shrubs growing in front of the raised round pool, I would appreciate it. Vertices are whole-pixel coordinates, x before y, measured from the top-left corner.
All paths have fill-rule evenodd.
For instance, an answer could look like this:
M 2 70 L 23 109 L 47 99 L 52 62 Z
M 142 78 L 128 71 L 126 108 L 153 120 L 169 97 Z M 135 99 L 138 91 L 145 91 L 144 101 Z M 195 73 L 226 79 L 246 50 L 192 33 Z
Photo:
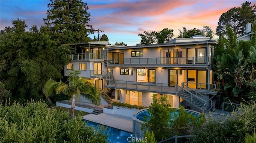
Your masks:
M 179 109 L 170 108 L 167 96 L 159 99 L 152 95 L 153 102 L 149 106 L 150 118 L 145 118 L 142 130 L 155 134 L 156 141 L 162 141 L 174 135 L 188 135 L 191 127 L 200 127 L 204 121 L 204 114 L 197 118 L 185 111 L 183 106 Z

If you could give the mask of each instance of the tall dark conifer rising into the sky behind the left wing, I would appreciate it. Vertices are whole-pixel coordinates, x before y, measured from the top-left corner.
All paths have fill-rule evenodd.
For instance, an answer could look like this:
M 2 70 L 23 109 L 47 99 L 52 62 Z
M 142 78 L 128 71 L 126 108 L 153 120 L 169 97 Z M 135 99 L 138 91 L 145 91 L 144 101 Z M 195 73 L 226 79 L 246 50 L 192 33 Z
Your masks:
M 60 45 L 88 41 L 94 33 L 87 4 L 82 0 L 50 0 L 44 23 L 50 27 L 54 40 Z

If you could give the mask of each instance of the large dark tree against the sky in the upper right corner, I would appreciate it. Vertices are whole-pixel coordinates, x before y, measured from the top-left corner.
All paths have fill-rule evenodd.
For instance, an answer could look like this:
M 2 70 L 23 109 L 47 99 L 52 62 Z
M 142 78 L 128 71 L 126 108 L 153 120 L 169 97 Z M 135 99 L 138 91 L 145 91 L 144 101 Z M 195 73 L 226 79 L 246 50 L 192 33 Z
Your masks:
M 245 25 L 253 23 L 256 18 L 256 6 L 251 6 L 251 2 L 244 2 L 241 7 L 231 8 L 223 13 L 218 21 L 216 34 L 222 38 L 227 35 L 227 26 L 230 25 L 236 35 L 242 36 L 245 34 Z

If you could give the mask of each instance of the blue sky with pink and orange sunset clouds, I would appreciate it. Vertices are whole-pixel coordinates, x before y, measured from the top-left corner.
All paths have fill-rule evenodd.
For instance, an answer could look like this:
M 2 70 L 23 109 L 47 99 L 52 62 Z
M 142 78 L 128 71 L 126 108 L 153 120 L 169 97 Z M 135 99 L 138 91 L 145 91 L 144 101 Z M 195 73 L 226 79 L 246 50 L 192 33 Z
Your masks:
M 173 29 L 202 29 L 209 26 L 214 32 L 220 16 L 243 0 L 86 0 L 90 22 L 94 29 L 103 30 L 109 43 L 124 42 L 128 46 L 140 43 L 139 33 Z M 250 1 L 256 4 L 256 0 Z M 44 25 L 48 0 L 0 0 L 0 29 L 12 27 L 12 20 L 25 20 L 28 27 Z M 90 35 L 98 37 L 98 33 Z

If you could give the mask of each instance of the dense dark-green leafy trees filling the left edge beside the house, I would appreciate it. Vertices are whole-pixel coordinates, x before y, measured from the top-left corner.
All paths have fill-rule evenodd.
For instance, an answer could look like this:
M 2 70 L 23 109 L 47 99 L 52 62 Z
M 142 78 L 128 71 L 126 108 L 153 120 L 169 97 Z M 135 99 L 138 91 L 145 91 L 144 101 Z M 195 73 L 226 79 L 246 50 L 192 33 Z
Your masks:
M 70 50 L 57 47 L 47 27 L 25 31 L 24 20 L 12 20 L 12 24 L 1 31 L 1 100 L 7 95 L 20 103 L 45 98 L 42 87 L 49 78 L 62 78 Z

